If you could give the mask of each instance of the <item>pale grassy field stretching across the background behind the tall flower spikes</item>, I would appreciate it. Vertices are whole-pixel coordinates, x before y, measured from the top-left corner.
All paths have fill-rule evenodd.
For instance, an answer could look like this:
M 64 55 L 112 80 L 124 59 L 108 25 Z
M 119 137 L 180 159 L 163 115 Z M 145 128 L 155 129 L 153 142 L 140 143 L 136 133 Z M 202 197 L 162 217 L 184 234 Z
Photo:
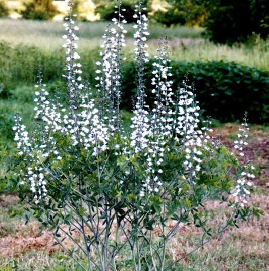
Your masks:
M 102 35 L 105 30 L 104 22 L 78 22 L 80 30 L 79 50 L 90 51 L 98 48 L 102 43 Z M 131 45 L 125 53 L 132 57 L 133 48 L 132 25 L 126 25 L 128 30 L 127 43 Z M 170 51 L 174 60 L 195 61 L 195 60 L 227 60 L 235 61 L 248 66 L 256 66 L 269 71 L 269 41 L 253 41 L 249 45 L 216 45 L 202 39 L 202 28 L 188 28 L 178 26 L 175 28 L 164 28 L 159 25 L 149 27 L 149 50 L 154 55 L 157 42 L 156 39 L 164 34 L 170 40 Z M 0 41 L 5 40 L 12 45 L 20 43 L 41 48 L 45 53 L 52 53 L 59 50 L 63 44 L 61 36 L 64 34 L 62 22 L 57 21 L 31 21 L 0 19 Z

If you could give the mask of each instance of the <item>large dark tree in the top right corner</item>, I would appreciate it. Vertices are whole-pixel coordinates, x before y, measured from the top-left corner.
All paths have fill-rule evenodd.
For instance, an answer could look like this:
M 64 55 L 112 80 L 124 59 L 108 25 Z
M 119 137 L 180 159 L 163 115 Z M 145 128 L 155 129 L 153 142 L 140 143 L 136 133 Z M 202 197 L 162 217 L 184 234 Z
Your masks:
M 245 42 L 253 33 L 265 39 L 269 34 L 267 8 L 265 0 L 214 1 L 205 23 L 207 36 L 212 41 L 229 45 Z

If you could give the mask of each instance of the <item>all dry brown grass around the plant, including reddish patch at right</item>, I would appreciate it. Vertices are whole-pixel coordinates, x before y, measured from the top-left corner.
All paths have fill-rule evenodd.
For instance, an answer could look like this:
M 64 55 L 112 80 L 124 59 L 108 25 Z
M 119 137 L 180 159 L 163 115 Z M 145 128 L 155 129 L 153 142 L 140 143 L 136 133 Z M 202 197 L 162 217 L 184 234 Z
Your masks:
M 237 125 L 227 124 L 223 128 L 216 129 L 216 134 L 220 135 L 222 142 L 227 145 L 233 151 L 233 136 L 238 129 Z M 248 154 L 251 156 L 254 164 L 259 165 L 261 176 L 255 180 L 256 185 L 262 186 L 261 191 L 254 193 L 251 196 L 250 201 L 256 202 L 257 206 L 264 210 L 264 216 L 260 219 L 252 218 L 248 222 L 239 223 L 240 229 L 230 228 L 224 232 L 223 237 L 218 237 L 212 240 L 205 247 L 199 249 L 197 255 L 202 256 L 205 253 L 210 253 L 210 257 L 214 260 L 227 261 L 232 260 L 231 251 L 241 250 L 243 251 L 242 257 L 250 257 L 253 259 L 262 259 L 266 261 L 269 259 L 269 200 L 268 200 L 268 132 L 259 130 L 257 127 L 253 127 L 250 130 L 250 145 L 248 146 Z M 261 158 L 260 158 L 261 157 Z M 11 206 L 16 206 L 18 198 L 16 195 L 2 195 L 0 198 L 0 211 L 3 211 L 4 216 L 8 215 L 8 210 Z M 251 203 L 250 202 L 250 203 Z M 210 202 L 206 204 L 206 209 L 213 216 L 218 216 L 219 219 L 224 221 L 225 209 L 219 211 L 219 204 L 217 202 Z M 1 228 L 7 224 L 13 223 L 12 219 L 5 219 L 0 221 Z M 212 220 L 212 226 L 214 220 Z M 167 228 L 170 229 L 175 225 L 175 222 L 171 221 L 167 224 Z M 11 226 L 10 226 L 11 227 Z M 29 222 L 24 225 L 24 220 L 17 220 L 12 226 L 13 230 L 5 234 L 0 235 L 0 261 L 7 258 L 22 258 L 23 255 L 30 251 L 35 252 L 47 252 L 53 254 L 56 251 L 63 251 L 60 246 L 53 246 L 55 241 L 52 234 L 46 230 L 40 230 L 39 224 L 35 221 Z M 112 235 L 114 234 L 116 226 L 112 228 Z M 2 229 L 3 230 L 3 229 Z M 3 231 L 2 231 L 3 232 Z M 154 229 L 154 234 L 157 236 L 160 233 L 158 228 Z M 195 237 L 198 237 L 200 230 L 193 225 L 186 226 L 180 229 L 178 234 L 172 238 L 168 246 L 168 254 L 174 260 L 183 257 L 191 250 L 195 248 Z M 80 235 L 78 232 L 74 232 L 74 237 L 79 240 Z M 124 241 L 125 237 L 121 237 L 121 241 Z M 67 247 L 72 246 L 71 241 L 65 241 Z M 226 249 L 224 250 L 224 247 Z M 219 251 L 223 251 L 222 255 L 219 255 Z M 245 255 L 245 256 L 243 256 Z M 221 258 L 220 258 L 221 257 Z M 244 259 L 242 259 L 244 261 Z M 189 260 L 183 261 L 183 264 L 189 264 Z M 204 259 L 204 265 L 209 265 L 209 258 Z M 247 270 L 246 266 L 242 267 L 242 270 Z M 229 266 L 222 264 L 223 271 L 230 270 Z M 236 267 L 235 270 L 240 270 L 240 267 Z M 265 269 L 264 269 L 265 270 Z

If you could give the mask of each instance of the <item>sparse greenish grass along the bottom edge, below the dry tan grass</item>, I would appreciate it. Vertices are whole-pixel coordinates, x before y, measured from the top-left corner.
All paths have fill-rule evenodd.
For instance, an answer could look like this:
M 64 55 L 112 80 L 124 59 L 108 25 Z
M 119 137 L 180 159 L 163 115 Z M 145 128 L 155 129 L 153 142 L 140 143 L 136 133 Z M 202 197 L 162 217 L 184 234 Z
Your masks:
M 258 247 L 257 247 L 258 248 Z M 18 266 L 18 269 L 16 269 Z M 117 262 L 118 271 L 131 270 L 131 260 Z M 0 271 L 80 271 L 80 269 L 67 255 L 63 253 L 29 251 L 23 258 L 3 261 Z M 267 271 L 266 256 L 255 256 L 255 251 L 243 253 L 242 248 L 233 247 L 223 242 L 222 248 L 215 252 L 194 253 L 181 264 L 176 264 L 171 271 Z M 95 270 L 94 270 L 95 271 Z

